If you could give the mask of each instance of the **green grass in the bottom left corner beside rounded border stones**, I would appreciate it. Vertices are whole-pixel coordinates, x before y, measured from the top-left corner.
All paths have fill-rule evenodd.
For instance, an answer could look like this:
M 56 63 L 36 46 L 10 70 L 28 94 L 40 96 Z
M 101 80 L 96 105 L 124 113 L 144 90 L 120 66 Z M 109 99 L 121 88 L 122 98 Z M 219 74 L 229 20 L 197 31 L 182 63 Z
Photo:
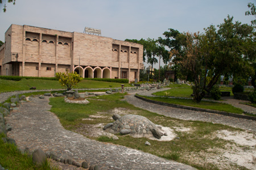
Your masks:
M 4 143 L 1 138 L 5 137 L 4 134 L 0 134 L 0 164 L 5 169 L 39 169 L 39 170 L 57 170 L 59 168 L 50 168 L 48 162 L 41 166 L 34 165 L 32 162 L 32 156 L 27 154 L 21 154 L 17 150 L 17 147 L 10 143 Z

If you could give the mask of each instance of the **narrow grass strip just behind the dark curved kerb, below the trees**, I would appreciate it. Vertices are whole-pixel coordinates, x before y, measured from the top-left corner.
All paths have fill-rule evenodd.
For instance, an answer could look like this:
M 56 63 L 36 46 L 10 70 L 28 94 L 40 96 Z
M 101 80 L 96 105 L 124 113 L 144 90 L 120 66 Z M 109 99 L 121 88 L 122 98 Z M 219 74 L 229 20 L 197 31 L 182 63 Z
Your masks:
M 189 107 L 212 109 L 216 111 L 238 113 L 238 114 L 243 113 L 242 109 L 233 107 L 232 105 L 226 104 L 226 103 L 217 103 L 212 101 L 200 101 L 200 103 L 196 103 L 195 101 L 190 99 L 170 99 L 168 97 L 147 97 L 147 96 L 142 96 L 142 97 L 146 99 L 162 101 L 164 103 L 170 103 L 170 104 L 179 104 L 179 105 L 185 105 Z

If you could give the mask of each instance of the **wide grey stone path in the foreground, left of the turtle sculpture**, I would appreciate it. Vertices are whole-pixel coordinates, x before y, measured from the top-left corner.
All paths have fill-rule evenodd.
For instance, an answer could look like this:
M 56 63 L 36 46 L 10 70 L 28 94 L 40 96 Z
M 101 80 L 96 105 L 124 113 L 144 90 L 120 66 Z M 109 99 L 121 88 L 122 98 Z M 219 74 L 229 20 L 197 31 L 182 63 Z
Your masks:
M 55 114 L 49 112 L 51 106 L 48 102 L 48 97 L 34 97 L 7 117 L 7 122 L 13 127 L 8 135 L 20 148 L 54 151 L 58 156 L 68 155 L 77 162 L 87 160 L 100 169 L 195 169 L 124 146 L 93 141 L 65 130 Z

